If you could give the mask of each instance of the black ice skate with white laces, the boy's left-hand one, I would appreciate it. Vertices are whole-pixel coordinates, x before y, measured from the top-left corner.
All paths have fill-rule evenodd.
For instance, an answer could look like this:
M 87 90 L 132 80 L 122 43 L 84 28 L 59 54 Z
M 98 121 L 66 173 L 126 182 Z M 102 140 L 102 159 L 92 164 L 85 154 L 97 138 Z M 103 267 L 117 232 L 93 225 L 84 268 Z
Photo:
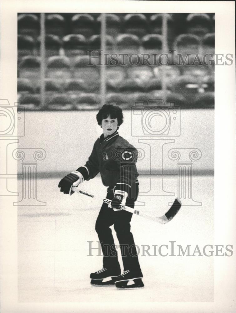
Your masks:
M 120 276 L 120 269 L 99 269 L 95 273 L 90 274 L 91 285 L 93 286 L 113 286 L 115 279 Z

